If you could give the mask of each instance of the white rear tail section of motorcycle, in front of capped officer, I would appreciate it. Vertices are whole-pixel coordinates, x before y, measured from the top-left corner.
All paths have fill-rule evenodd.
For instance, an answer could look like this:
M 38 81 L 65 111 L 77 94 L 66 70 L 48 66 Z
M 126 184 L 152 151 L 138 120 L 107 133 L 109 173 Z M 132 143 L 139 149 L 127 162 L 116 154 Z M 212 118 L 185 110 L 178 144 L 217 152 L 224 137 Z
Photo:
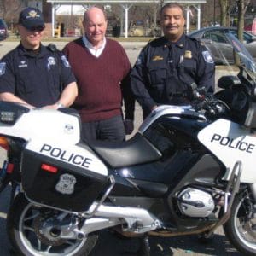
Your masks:
M 53 109 L 35 108 L 23 113 L 14 125 L 1 125 L 0 134 L 26 141 L 40 137 L 42 141 L 76 144 L 80 140 L 79 117 Z

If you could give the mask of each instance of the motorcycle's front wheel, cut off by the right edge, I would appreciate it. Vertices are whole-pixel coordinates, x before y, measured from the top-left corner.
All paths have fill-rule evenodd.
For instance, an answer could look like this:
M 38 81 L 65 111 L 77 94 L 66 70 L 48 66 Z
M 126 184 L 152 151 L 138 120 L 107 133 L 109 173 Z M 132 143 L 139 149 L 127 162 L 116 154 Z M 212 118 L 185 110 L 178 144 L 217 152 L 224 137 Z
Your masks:
M 224 224 L 224 234 L 234 247 L 243 255 L 256 255 L 256 223 L 255 218 L 249 218 L 248 198 L 243 193 L 236 195 L 231 207 L 229 220 Z M 252 205 L 255 204 L 252 201 Z

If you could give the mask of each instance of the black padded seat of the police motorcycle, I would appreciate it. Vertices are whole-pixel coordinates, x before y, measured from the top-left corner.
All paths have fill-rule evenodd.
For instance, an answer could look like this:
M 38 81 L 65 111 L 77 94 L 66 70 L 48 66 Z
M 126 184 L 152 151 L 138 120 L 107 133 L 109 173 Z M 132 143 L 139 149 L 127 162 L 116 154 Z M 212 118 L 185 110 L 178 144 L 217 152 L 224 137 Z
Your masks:
M 152 162 L 162 156 L 160 151 L 140 133 L 121 143 L 96 141 L 90 143 L 90 148 L 113 168 Z

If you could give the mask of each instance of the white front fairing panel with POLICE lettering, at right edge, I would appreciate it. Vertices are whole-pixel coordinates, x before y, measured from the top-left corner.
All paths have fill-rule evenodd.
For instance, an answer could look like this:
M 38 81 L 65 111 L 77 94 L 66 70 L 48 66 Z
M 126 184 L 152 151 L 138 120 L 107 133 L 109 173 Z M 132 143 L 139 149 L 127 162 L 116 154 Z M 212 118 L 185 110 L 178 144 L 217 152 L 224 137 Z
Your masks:
M 218 119 L 201 130 L 198 139 L 226 166 L 224 180 L 229 179 L 236 161 L 241 160 L 241 183 L 256 183 L 256 137 L 247 128 Z

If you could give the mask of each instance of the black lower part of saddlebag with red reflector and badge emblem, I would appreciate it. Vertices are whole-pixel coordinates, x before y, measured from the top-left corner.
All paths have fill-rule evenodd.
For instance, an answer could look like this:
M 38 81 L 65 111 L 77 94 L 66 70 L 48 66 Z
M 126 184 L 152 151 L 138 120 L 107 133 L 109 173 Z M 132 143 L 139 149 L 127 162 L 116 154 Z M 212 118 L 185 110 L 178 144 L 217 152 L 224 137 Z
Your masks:
M 71 212 L 87 211 L 109 186 L 107 176 L 27 149 L 21 181 L 30 200 Z

